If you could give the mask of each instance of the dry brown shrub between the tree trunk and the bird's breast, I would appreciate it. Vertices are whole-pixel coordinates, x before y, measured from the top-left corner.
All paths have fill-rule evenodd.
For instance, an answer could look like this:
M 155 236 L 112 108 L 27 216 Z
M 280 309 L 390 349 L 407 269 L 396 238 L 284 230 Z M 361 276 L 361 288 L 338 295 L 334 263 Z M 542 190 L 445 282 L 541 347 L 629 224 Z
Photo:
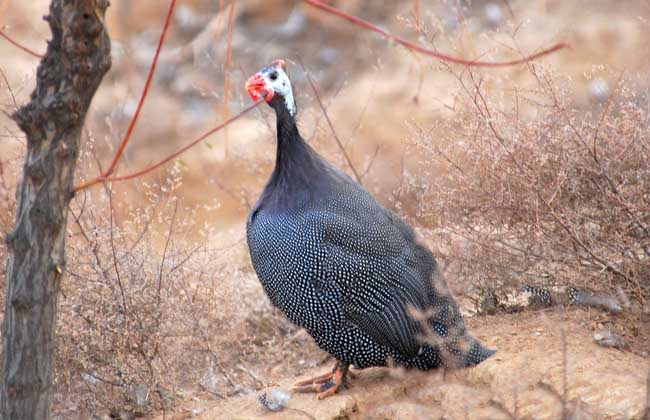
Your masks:
M 272 342 L 293 332 L 281 328 L 286 321 L 274 320 L 267 339 L 262 327 L 250 328 L 269 304 L 244 263 L 241 234 L 186 237 L 195 215 L 175 196 L 180 185 L 176 167 L 163 182 L 141 186 L 144 206 L 122 212 L 115 209 L 127 207 L 124 197 L 108 190 L 75 200 L 55 412 L 120 417 L 165 410 L 200 391 L 225 397 L 264 386 L 253 363 L 285 356 Z

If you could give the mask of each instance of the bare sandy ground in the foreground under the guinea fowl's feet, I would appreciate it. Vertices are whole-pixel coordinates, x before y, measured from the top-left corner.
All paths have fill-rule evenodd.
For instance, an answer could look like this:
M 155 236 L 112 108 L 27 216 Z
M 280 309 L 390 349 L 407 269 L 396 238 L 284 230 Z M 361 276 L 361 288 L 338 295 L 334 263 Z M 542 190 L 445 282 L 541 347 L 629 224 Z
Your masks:
M 596 345 L 585 322 L 588 318 L 586 311 L 554 311 L 471 319 L 476 336 L 498 350 L 473 369 L 421 373 L 373 368 L 360 372 L 349 389 L 324 401 L 312 394 L 291 395 L 282 412 L 264 409 L 257 392 L 195 401 L 166 418 L 558 419 L 566 380 L 571 418 L 641 419 L 650 361 Z M 323 370 L 325 366 L 304 377 Z M 294 379 L 283 378 L 278 387 L 288 389 Z

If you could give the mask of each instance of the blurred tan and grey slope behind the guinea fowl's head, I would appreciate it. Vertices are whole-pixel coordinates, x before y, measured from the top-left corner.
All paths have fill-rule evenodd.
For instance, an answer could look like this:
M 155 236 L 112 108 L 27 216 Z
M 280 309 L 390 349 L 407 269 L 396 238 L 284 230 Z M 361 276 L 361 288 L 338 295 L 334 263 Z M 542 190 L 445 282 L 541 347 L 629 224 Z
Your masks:
M 418 2 L 418 28 L 415 3 L 335 2 L 396 35 L 466 59 L 519 58 L 558 41 L 568 42 L 570 50 L 542 63 L 570 79 L 566 93 L 585 112 L 595 111 L 594 106 L 606 101 L 623 70 L 639 92 L 649 83 L 647 2 L 626 2 L 620 7 L 606 0 L 461 1 L 463 23 L 455 0 L 422 1 Z M 47 6 L 46 0 L 4 1 L 4 30 L 33 50 L 44 51 L 49 31 L 41 17 Z M 374 33 L 309 5 L 251 0 L 235 2 L 231 10 L 231 2 L 221 2 L 221 13 L 219 6 L 219 0 L 179 2 L 154 88 L 121 173 L 166 156 L 225 116 L 237 113 L 249 103 L 245 80 L 278 57 L 290 63 L 303 135 L 345 166 L 330 141 L 298 56 L 313 75 L 352 161 L 383 199 L 398 187 L 403 165 L 414 170 L 418 164 L 417 156 L 404 153 L 414 136 L 409 124 L 430 125 L 452 116 L 458 105 L 462 88 L 440 68 L 444 65 L 390 45 Z M 135 112 L 166 13 L 167 4 L 162 2 L 116 0 L 109 8 L 113 67 L 87 122 L 95 156 L 104 165 Z M 0 43 L 0 53 L 20 103 L 34 83 L 37 62 L 7 42 Z M 514 87 L 531 89 L 536 83 L 526 66 L 485 74 L 491 79 L 486 89 L 501 95 Z M 10 111 L 10 98 L 3 99 Z M 228 229 L 244 220 L 246 204 L 254 203 L 273 163 L 272 121 L 271 113 L 260 108 L 256 115 L 212 136 L 180 159 L 184 201 L 210 208 L 199 212 L 201 222 Z M 3 141 L 5 153 L 11 143 Z M 82 176 L 97 173 L 94 159 L 83 162 L 80 169 Z M 160 176 L 158 172 L 147 179 L 155 181 Z M 116 189 L 134 193 L 129 198 L 137 202 L 142 199 L 137 191 L 141 181 L 116 185 Z

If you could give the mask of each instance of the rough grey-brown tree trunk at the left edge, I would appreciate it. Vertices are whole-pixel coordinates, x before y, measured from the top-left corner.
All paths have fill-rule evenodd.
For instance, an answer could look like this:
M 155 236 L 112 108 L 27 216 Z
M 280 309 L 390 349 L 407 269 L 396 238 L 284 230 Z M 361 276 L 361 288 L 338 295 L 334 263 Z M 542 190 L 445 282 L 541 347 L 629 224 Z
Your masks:
M 52 30 L 30 102 L 14 119 L 27 136 L 2 331 L 2 418 L 48 419 L 57 296 L 81 129 L 111 65 L 108 0 L 52 0 Z

